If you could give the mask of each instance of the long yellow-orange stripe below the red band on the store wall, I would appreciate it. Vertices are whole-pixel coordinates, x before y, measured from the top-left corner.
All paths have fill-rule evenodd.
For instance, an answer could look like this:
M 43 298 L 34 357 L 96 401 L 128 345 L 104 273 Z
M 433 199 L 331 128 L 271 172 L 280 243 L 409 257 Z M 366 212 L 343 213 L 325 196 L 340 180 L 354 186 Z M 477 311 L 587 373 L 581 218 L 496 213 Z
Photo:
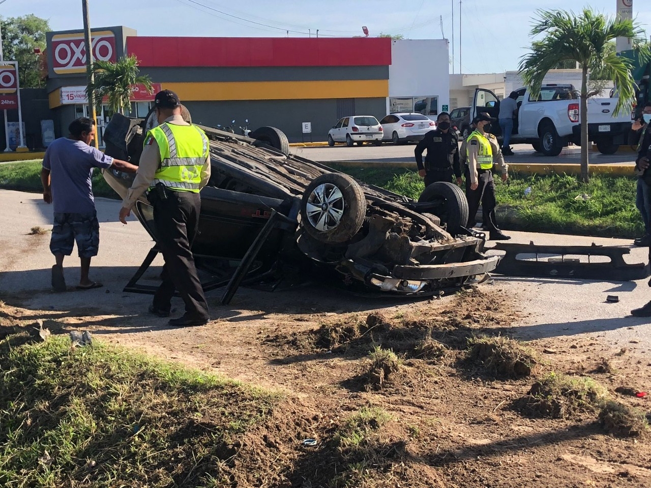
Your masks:
M 337 81 L 209 81 L 205 83 L 161 83 L 173 90 L 181 102 L 209 100 L 313 100 L 318 98 L 386 98 L 387 79 Z

